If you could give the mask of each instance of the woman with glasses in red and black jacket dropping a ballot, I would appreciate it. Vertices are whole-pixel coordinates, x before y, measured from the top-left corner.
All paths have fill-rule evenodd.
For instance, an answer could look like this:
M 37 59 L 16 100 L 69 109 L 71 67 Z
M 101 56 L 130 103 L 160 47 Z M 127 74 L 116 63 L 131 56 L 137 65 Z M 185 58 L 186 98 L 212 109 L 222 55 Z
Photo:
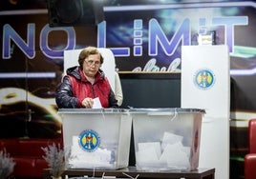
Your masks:
M 117 108 L 117 99 L 104 72 L 100 70 L 103 57 L 95 47 L 88 47 L 79 54 L 78 64 L 67 70 L 56 90 L 59 109 L 92 109 L 96 98 L 102 108 Z

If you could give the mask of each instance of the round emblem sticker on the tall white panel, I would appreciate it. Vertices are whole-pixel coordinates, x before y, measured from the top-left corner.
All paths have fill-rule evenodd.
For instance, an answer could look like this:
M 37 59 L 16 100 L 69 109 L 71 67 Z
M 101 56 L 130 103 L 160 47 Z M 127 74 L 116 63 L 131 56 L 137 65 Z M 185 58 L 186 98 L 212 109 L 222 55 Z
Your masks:
M 198 70 L 194 76 L 194 83 L 200 89 L 210 89 L 215 82 L 215 75 L 211 70 Z

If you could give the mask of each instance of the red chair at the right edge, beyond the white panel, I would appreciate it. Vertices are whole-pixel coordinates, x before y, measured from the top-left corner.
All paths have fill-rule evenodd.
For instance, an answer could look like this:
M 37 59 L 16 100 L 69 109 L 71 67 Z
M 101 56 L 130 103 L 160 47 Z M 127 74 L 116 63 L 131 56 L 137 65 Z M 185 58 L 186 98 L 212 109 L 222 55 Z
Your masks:
M 245 155 L 245 179 L 256 178 L 256 119 L 248 122 L 248 153 Z

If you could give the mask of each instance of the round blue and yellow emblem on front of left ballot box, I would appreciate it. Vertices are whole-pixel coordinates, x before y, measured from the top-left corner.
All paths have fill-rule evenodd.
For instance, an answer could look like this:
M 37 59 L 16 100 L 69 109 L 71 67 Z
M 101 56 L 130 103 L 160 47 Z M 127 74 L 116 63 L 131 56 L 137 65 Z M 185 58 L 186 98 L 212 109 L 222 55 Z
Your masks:
M 86 129 L 80 133 L 79 146 L 86 151 L 96 150 L 99 142 L 99 136 L 95 130 Z

